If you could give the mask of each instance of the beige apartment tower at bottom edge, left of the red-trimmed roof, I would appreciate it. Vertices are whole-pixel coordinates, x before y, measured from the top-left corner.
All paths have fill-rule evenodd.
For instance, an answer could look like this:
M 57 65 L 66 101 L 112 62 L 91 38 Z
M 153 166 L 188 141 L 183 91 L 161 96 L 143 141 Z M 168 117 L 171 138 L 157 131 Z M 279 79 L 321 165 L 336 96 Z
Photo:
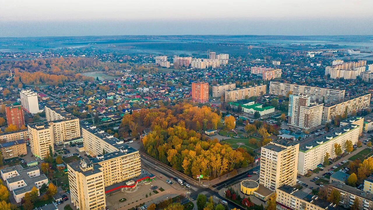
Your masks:
M 80 210 L 104 210 L 104 175 L 100 165 L 85 160 L 68 164 L 71 203 Z

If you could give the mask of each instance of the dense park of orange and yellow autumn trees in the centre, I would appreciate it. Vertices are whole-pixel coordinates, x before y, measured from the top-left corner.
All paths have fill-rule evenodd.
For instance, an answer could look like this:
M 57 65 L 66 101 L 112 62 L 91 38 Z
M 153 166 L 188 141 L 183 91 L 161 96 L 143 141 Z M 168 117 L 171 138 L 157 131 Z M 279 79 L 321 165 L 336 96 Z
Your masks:
M 180 103 L 157 109 L 141 109 L 125 115 L 120 136 L 150 127 L 142 138 L 144 151 L 190 177 L 218 177 L 239 167 L 246 167 L 254 158 L 243 148 L 232 149 L 217 139 L 202 135 L 203 130 L 221 127 L 221 114 L 203 106 Z

